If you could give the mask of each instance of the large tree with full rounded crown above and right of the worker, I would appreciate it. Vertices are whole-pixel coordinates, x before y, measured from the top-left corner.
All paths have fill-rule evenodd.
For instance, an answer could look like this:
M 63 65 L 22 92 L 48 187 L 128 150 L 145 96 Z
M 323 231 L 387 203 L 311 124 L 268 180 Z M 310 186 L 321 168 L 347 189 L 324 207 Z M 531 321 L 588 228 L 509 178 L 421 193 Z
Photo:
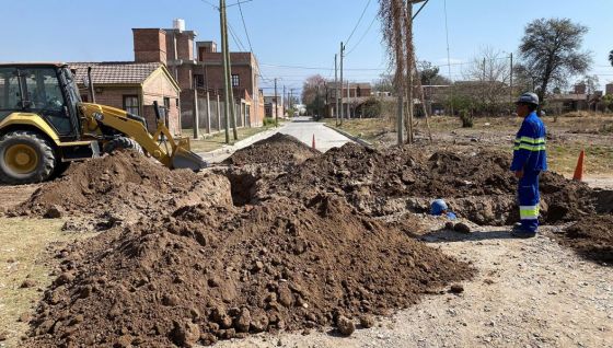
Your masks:
M 585 73 L 591 54 L 581 51 L 588 27 L 568 19 L 540 19 L 525 26 L 519 47 L 521 69 L 534 79 L 536 94 L 544 101 L 553 86 L 564 86 L 570 77 Z

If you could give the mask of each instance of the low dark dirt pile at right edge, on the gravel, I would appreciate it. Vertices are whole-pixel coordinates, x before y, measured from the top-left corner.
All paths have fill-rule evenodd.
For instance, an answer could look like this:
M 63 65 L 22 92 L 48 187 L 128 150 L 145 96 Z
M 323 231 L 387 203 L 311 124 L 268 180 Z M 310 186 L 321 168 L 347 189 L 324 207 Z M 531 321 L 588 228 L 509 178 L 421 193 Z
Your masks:
M 613 265 L 613 214 L 583 217 L 555 237 L 585 258 Z

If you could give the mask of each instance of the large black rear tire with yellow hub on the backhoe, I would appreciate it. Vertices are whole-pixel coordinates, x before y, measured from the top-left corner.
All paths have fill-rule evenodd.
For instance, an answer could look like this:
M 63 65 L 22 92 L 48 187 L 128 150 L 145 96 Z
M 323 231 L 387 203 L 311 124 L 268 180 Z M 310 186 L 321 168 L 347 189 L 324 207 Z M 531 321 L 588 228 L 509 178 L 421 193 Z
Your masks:
M 44 182 L 57 162 L 54 146 L 35 131 L 16 130 L 0 138 L 0 182 L 4 184 Z

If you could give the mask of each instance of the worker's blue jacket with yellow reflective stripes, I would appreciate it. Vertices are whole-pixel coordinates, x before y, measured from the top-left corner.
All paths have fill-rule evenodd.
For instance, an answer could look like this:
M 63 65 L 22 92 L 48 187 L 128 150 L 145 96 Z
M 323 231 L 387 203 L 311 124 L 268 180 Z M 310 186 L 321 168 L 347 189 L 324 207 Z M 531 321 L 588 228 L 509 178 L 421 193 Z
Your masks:
M 540 172 L 547 170 L 545 134 L 545 125 L 536 116 L 536 112 L 523 119 L 514 141 L 511 171 Z

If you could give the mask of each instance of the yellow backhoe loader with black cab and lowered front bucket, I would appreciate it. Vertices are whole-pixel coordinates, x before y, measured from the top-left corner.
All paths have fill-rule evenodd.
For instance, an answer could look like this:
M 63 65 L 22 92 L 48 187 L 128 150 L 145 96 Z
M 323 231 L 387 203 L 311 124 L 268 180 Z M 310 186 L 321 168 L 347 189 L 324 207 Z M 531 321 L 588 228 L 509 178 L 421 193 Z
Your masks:
M 173 137 L 154 108 L 151 134 L 143 117 L 81 102 L 67 65 L 0 63 L 0 182 L 47 181 L 73 161 L 117 149 L 143 151 L 170 169 L 206 167 L 189 139 Z

